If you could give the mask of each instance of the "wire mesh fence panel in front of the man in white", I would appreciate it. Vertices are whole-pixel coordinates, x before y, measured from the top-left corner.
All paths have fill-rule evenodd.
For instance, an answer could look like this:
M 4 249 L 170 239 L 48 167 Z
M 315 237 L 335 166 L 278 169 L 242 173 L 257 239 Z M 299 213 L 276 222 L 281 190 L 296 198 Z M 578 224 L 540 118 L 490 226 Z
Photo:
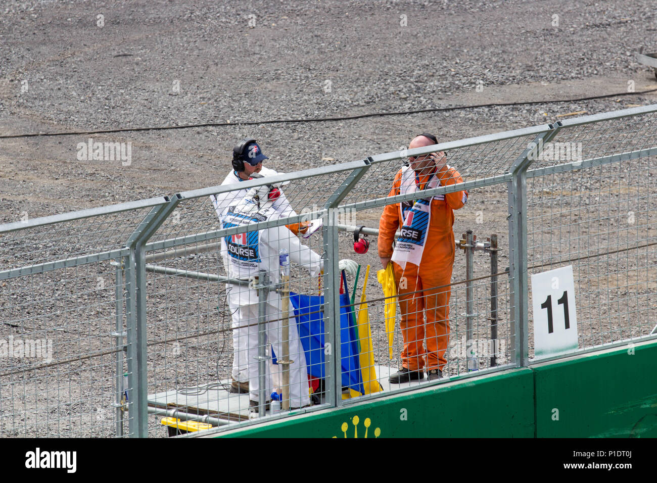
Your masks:
M 148 245 L 152 436 L 163 434 L 159 421 L 171 408 L 175 417 L 226 426 L 308 407 L 311 396 L 323 402 L 324 231 L 316 219 L 290 223 L 286 186 L 263 185 L 260 196 L 237 186 L 220 208 L 214 195 L 194 193 L 160 226 L 168 242 Z M 182 244 L 196 233 L 202 241 Z

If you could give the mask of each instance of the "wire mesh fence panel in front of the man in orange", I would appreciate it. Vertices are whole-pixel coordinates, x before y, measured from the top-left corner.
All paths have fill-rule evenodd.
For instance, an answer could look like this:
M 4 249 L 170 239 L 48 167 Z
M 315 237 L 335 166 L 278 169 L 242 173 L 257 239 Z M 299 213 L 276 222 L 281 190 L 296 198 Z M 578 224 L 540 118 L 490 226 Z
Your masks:
M 453 168 L 459 172 L 461 170 L 460 166 Z M 392 186 L 392 180 L 388 183 Z M 462 187 L 463 184 L 455 185 L 452 191 Z M 423 198 L 424 195 L 426 191 L 417 191 L 414 197 Z M 507 196 L 507 183 L 503 179 L 499 179 L 496 185 L 471 188 L 466 204 L 455 205 L 461 207 L 453 211 L 456 219 L 454 227 L 451 227 L 449 220 L 451 215 L 445 214 L 449 229 L 445 229 L 442 235 L 434 232 L 428 235 L 430 240 L 435 241 L 434 237 L 447 237 L 451 231 L 458 233 L 459 228 L 476 228 L 478 233 L 473 236 L 476 240 L 468 245 L 472 247 L 469 270 L 465 250 L 456 248 L 454 244 L 448 246 L 447 251 L 454 253 L 454 262 L 445 267 L 440 263 L 442 253 L 434 253 L 436 246 L 433 246 L 432 251 L 422 256 L 420 269 L 413 264 L 402 268 L 399 262 L 390 265 L 394 267 L 394 281 L 391 283 L 396 288 L 394 294 L 397 296 L 390 295 L 390 291 L 384 288 L 384 273 L 381 275 L 383 286 L 373 276 L 379 271 L 379 264 L 371 267 L 365 290 L 365 308 L 361 308 L 359 303 L 359 292 L 363 292 L 365 281 L 358 284 L 353 306 L 357 314 L 361 311 L 367 313 L 366 317 L 362 317 L 363 321 L 360 315 L 357 315 L 357 320 L 362 378 L 366 386 L 369 383 L 369 388 L 363 396 L 351 393 L 351 402 L 389 394 L 390 391 L 409 390 L 428 382 L 447 382 L 453 377 L 476 375 L 480 370 L 499 369 L 515 363 L 510 313 L 511 284 L 506 268 L 509 262 L 507 234 L 503 231 L 499 239 L 493 235 L 495 246 L 499 246 L 499 250 L 495 250 L 495 260 L 500 261 L 495 270 L 495 288 L 491 292 L 491 233 L 485 231 L 495 227 L 506 229 Z M 439 194 L 434 199 L 442 201 L 445 195 Z M 367 214 L 363 214 L 361 208 L 365 204 L 355 206 L 355 225 L 370 221 L 379 228 L 377 218 L 382 217 L 380 210 L 372 217 L 369 212 L 373 210 L 369 208 L 365 210 Z M 399 218 L 396 219 L 394 229 L 400 229 Z M 456 241 L 461 246 L 459 238 Z M 466 238 L 465 233 L 463 238 Z M 379 238 L 378 242 L 380 244 L 382 239 Z M 463 248 L 465 246 L 466 240 L 463 240 Z M 361 263 L 359 256 L 354 257 Z M 369 329 L 369 342 L 363 342 L 361 329 L 366 331 L 366 338 Z M 403 373 L 404 368 L 409 369 L 410 373 Z

